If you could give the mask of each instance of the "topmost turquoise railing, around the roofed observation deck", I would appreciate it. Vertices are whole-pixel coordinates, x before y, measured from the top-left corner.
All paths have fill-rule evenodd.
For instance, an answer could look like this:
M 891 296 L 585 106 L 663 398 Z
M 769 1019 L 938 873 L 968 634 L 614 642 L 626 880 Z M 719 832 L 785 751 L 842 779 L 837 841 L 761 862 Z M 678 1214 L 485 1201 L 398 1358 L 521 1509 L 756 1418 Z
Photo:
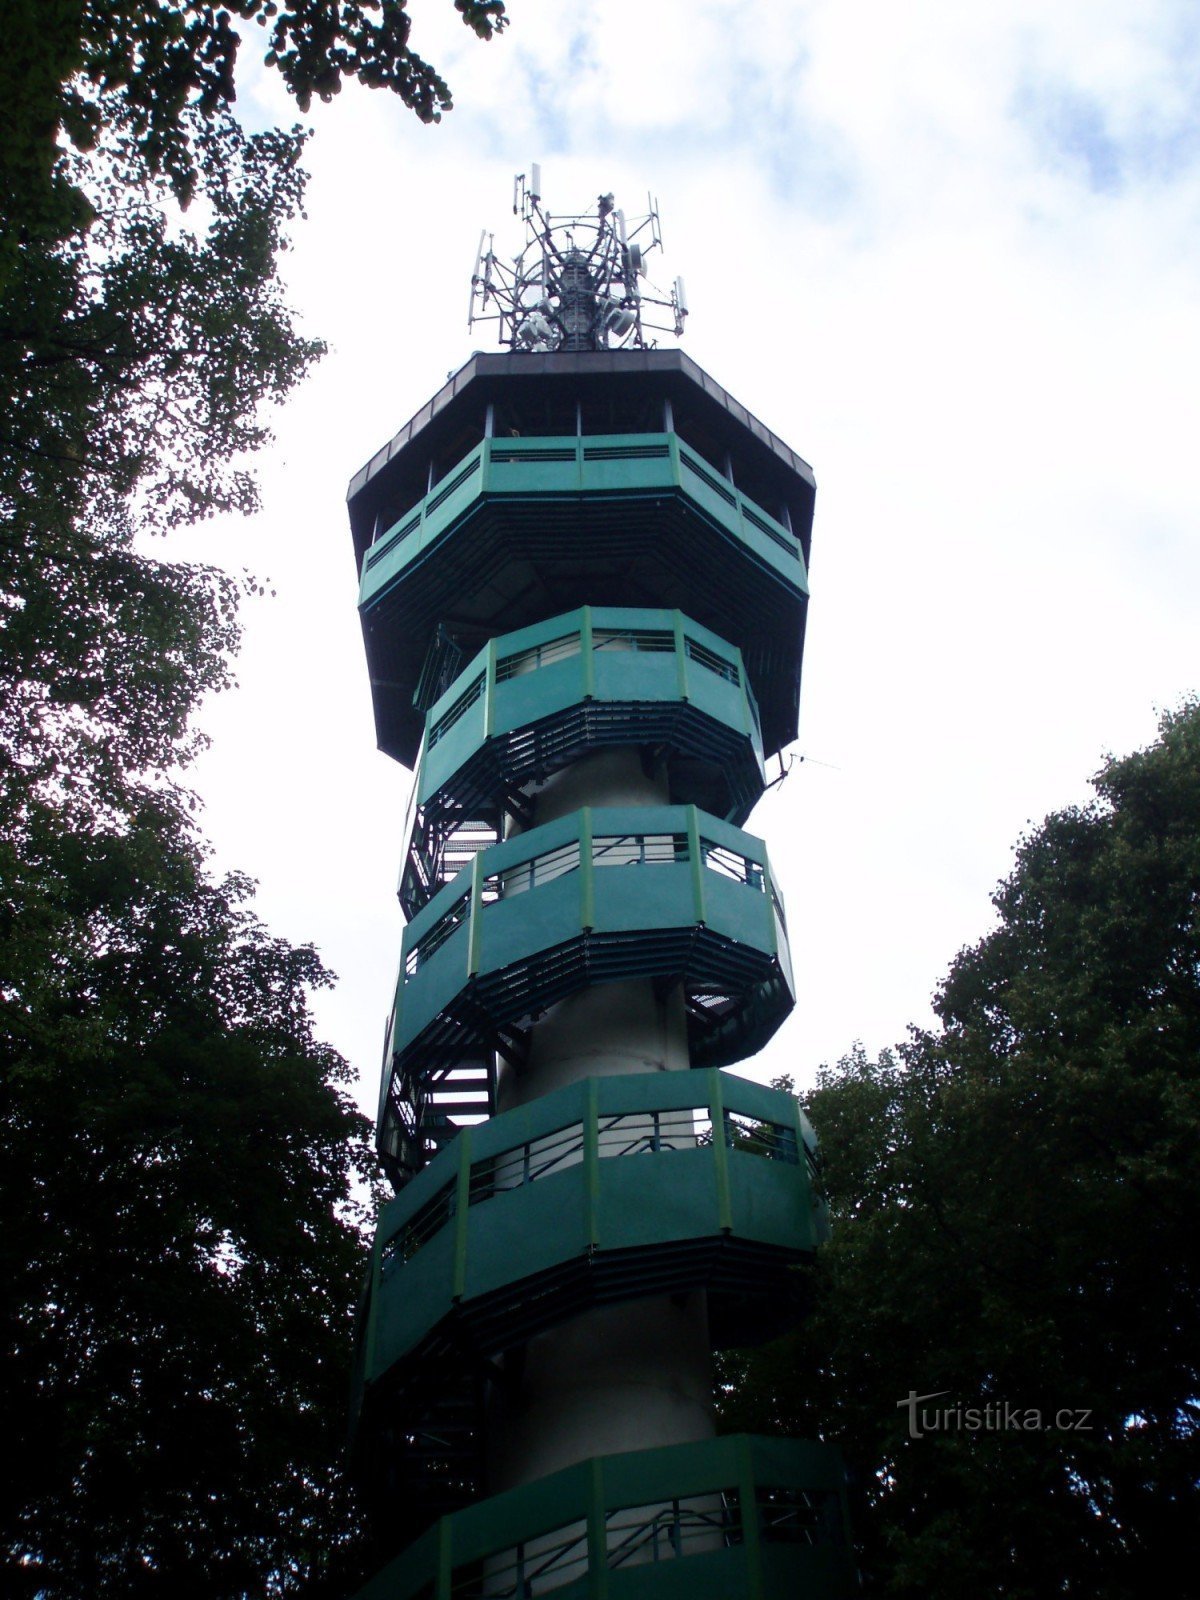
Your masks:
M 486 438 L 386 528 L 363 560 L 360 605 L 482 499 L 677 491 L 726 534 L 806 592 L 800 541 L 685 445 L 677 434 Z

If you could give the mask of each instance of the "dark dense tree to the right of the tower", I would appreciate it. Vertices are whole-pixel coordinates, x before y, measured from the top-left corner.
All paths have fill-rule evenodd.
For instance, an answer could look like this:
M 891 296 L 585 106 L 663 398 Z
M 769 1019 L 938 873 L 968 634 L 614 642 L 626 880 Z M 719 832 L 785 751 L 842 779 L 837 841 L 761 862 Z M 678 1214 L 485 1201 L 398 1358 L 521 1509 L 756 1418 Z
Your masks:
M 816 1312 L 728 1374 L 730 1421 L 843 1440 L 878 1594 L 1184 1592 L 1200 706 L 1094 787 L 1021 842 L 939 1027 L 902 1059 L 858 1050 L 822 1072 L 808 1109 L 834 1240 Z M 918 1413 L 910 1437 L 906 1397 L 936 1392 L 925 1414 L 950 1416 L 928 1430 Z

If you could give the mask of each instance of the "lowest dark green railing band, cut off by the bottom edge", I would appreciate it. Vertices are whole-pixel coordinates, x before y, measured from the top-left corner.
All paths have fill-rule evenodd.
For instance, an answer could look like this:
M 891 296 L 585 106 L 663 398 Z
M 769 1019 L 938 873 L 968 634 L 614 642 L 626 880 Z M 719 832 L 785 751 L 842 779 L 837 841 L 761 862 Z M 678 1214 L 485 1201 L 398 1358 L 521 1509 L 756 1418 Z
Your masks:
M 835 1600 L 854 1586 L 837 1450 L 741 1434 L 494 1494 L 443 1517 L 358 1600 Z

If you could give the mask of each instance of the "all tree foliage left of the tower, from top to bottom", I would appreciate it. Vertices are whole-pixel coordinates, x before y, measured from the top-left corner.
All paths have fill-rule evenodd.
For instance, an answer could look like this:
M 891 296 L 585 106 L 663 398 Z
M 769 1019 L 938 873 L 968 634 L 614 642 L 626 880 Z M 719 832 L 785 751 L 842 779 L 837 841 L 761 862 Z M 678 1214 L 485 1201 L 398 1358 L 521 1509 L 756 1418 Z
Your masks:
M 368 1125 L 312 1034 L 328 974 L 211 880 L 182 787 L 238 584 L 149 544 L 256 506 L 266 406 L 322 352 L 278 275 L 304 138 L 237 123 L 238 24 L 301 107 L 346 77 L 450 104 L 394 0 L 5 10 L 0 1563 L 46 1600 L 354 1565 Z

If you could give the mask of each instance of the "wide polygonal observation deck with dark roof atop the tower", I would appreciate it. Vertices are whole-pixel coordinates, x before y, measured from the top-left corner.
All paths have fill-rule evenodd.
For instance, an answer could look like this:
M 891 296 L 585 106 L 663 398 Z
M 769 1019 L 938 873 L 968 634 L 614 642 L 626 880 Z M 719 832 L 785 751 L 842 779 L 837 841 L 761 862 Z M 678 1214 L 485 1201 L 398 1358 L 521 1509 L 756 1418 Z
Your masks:
M 742 651 L 763 752 L 795 738 L 811 470 L 678 352 L 622 355 L 632 387 L 606 360 L 477 355 L 350 485 L 376 731 L 406 765 L 440 629 L 474 650 L 582 605 L 685 611 Z

